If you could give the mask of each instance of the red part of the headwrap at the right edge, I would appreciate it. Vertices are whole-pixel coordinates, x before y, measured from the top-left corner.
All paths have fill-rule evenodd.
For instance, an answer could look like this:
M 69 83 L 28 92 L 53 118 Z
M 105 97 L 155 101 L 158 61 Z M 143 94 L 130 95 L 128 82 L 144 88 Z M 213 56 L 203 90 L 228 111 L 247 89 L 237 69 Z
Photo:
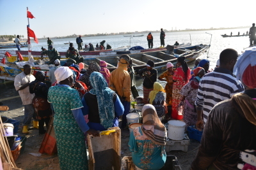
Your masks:
M 256 89 L 256 66 L 249 66 L 244 70 L 242 81 L 244 85 L 251 89 Z

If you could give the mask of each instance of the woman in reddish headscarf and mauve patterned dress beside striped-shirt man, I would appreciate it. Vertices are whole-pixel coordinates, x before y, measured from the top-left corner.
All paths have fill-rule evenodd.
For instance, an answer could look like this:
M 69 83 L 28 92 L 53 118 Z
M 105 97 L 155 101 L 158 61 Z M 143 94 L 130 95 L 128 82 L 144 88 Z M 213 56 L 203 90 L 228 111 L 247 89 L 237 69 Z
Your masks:
M 180 91 L 182 101 L 184 100 L 183 120 L 187 127 L 196 124 L 197 115 L 195 110 L 195 100 L 199 83 L 204 74 L 205 71 L 202 67 L 196 67 L 196 69 L 194 69 L 195 78 L 184 85 Z

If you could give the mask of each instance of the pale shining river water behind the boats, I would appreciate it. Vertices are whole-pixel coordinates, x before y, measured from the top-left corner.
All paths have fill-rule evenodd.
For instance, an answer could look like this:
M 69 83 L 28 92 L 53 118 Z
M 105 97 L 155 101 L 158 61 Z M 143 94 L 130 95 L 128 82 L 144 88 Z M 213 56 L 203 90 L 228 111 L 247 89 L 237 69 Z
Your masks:
M 223 30 L 212 30 L 212 31 L 167 32 L 165 45 L 173 45 L 175 41 L 178 41 L 179 43 L 191 42 L 192 45 L 198 45 L 198 44 L 209 45 L 211 41 L 211 48 L 209 49 L 209 53 L 204 53 L 199 58 L 209 59 L 210 69 L 211 68 L 214 69 L 214 67 L 216 66 L 216 61 L 218 60 L 220 56 L 220 52 L 222 50 L 226 48 L 234 48 L 235 50 L 237 50 L 238 53 L 241 53 L 244 48 L 250 45 L 248 36 L 222 38 L 222 36 L 220 35 L 221 34 L 229 35 L 230 32 L 233 32 L 233 35 L 237 35 L 238 32 L 240 32 L 240 34 L 243 34 L 243 33 L 246 34 L 246 31 L 249 31 L 249 28 L 248 29 L 223 29 Z M 206 34 L 205 32 L 209 34 Z M 212 34 L 212 38 L 211 38 L 211 34 Z M 133 36 L 134 34 L 131 34 L 131 35 Z M 140 34 L 137 34 L 137 35 L 140 35 Z M 152 35 L 154 37 L 154 47 L 159 47 L 160 46 L 159 33 L 153 33 Z M 112 48 L 118 48 L 120 46 L 130 46 L 130 40 L 131 40 L 131 46 L 140 45 L 143 48 L 148 48 L 147 34 L 145 34 L 144 36 L 132 37 L 132 38 L 116 35 L 116 36 L 97 36 L 97 37 L 84 37 L 84 38 L 82 37 L 82 39 L 83 39 L 83 45 L 92 43 L 95 46 L 97 43 L 100 43 L 100 41 L 106 40 L 105 46 L 108 43 L 109 45 L 112 46 Z M 64 43 L 68 43 L 68 42 L 74 43 L 75 48 L 77 48 L 76 38 L 52 39 L 52 41 L 54 43 L 54 48 L 56 48 L 59 52 L 68 50 L 69 45 L 64 45 Z M 40 51 L 42 46 L 44 46 L 44 48 L 47 48 L 47 40 L 40 40 L 38 44 L 34 43 L 32 40 L 31 46 L 33 51 Z M 21 49 L 28 50 L 28 48 L 21 48 Z M 208 54 L 208 57 L 207 57 L 207 54 Z M 189 66 L 193 66 L 193 64 L 189 64 Z M 158 73 L 158 76 L 160 74 L 161 73 Z M 165 85 L 165 82 L 166 81 L 159 81 L 159 83 L 161 83 L 163 87 Z M 136 77 L 136 87 L 139 91 L 140 96 L 143 96 L 142 79 L 140 77 Z M 13 83 L 6 83 L 6 85 L 4 85 L 3 83 L 0 84 L 0 94 L 3 94 L 6 91 L 8 91 L 12 95 L 14 94 L 17 95 L 17 93 L 12 92 L 13 90 L 15 90 L 13 87 Z M 1 96 L 0 96 L 0 101 L 2 98 Z

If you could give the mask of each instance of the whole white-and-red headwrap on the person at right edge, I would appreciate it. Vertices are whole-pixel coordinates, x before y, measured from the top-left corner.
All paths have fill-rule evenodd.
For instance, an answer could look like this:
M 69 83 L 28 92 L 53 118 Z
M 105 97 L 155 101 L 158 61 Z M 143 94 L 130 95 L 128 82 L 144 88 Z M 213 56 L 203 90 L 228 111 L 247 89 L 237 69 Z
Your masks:
M 237 80 L 251 89 L 256 89 L 256 47 L 248 48 L 242 53 L 234 66 Z

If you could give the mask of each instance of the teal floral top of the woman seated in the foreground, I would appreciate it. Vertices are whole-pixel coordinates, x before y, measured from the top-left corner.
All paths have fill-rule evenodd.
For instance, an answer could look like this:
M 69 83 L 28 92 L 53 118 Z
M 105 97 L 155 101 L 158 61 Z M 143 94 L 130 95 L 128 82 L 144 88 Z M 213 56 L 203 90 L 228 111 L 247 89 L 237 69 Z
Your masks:
M 128 145 L 132 161 L 140 169 L 157 170 L 164 166 L 165 146 L 154 144 L 143 134 L 141 127 L 136 127 L 131 132 Z

